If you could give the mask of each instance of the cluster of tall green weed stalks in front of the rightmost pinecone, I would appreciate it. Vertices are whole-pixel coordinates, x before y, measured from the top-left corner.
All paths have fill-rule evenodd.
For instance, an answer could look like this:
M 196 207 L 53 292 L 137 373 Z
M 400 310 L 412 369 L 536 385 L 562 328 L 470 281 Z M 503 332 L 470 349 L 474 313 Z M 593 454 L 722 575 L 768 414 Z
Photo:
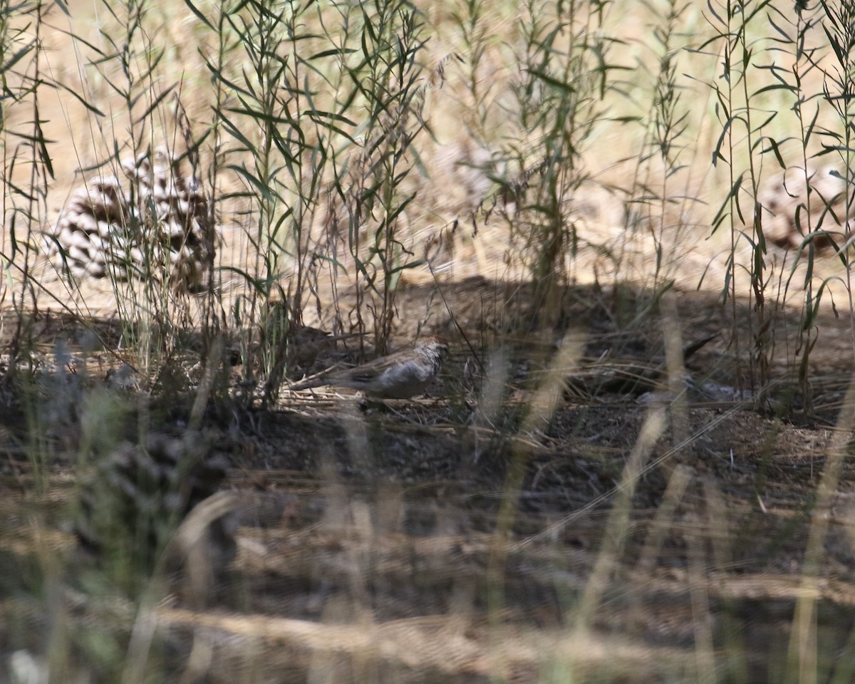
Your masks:
M 825 278 L 818 286 L 814 282 L 817 249 L 823 243 L 834 245 L 846 269 L 852 310 L 847 256 L 848 216 L 852 209 L 852 160 L 847 151 L 851 150 L 851 133 L 846 124 L 835 128 L 827 123 L 829 113 L 836 113 L 836 120 L 841 122 L 848 121 L 846 117 L 850 115 L 846 93 L 852 89 L 852 65 L 846 46 L 851 46 L 852 41 L 852 17 L 847 14 L 852 9 L 847 10 L 848 5 L 831 8 L 826 3 L 813 7 L 796 3 L 794 14 L 768 2 L 711 5 L 707 18 L 716 37 L 700 48 L 706 50 L 717 44 L 714 54 L 723 63 L 720 80 L 712 85 L 722 127 L 713 162 L 727 166 L 730 192 L 713 221 L 713 231 L 728 225 L 731 236 L 728 278 L 722 295 L 732 306 L 734 351 L 740 363 L 737 284 L 745 270 L 753 300 L 748 314 L 752 353 L 747 381 L 757 392 L 758 401 L 764 401 L 771 380 L 771 359 L 775 346 L 781 344 L 780 339 L 776 340 L 781 335 L 775 332 L 775 311 L 784 303 L 770 287 L 774 261 L 769 254 L 768 227 L 764 227 L 764 217 L 769 217 L 769 207 L 764 205 L 765 189 L 775 186 L 780 178 L 782 192 L 793 198 L 792 209 L 787 205 L 786 210 L 793 212 L 789 220 L 800 239 L 783 297 L 787 296 L 793 276 L 801 273 L 802 321 L 793 341 L 795 353 L 800 356 L 799 387 L 808 412 L 812 410 L 809 362 L 819 334 L 820 304 L 828 293 L 830 280 L 836 280 Z M 820 32 L 828 44 L 817 46 Z M 825 60 L 829 45 L 837 62 L 834 68 L 828 68 Z M 817 73 L 822 74 L 823 91 L 811 91 L 810 84 L 816 82 Z M 787 106 L 782 107 L 781 102 Z M 822 177 L 819 168 L 828 166 L 829 156 L 830 174 L 846 181 L 842 202 L 818 187 Z M 786 175 L 787 168 L 795 173 Z M 828 173 L 828 169 L 822 173 Z M 801 188 L 805 189 L 803 194 Z M 747 229 L 743 230 L 743 226 Z M 739 262 L 743 241 L 752 255 L 748 263 Z M 797 271 L 797 267 L 802 270 Z M 855 339 L 855 322 L 852 325 Z M 781 334 L 783 343 L 789 345 L 787 333 Z M 740 381 L 743 377 L 740 373 Z

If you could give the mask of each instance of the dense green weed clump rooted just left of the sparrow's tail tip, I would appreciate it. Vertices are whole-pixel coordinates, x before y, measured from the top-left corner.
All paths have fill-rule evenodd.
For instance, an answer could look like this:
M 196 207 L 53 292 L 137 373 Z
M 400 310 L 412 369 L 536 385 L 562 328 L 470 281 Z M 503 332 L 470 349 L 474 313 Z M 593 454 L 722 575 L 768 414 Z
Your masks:
M 320 73 L 310 50 L 323 40 L 306 27 L 311 4 L 222 3 L 215 21 L 187 5 L 217 41 L 215 53 L 203 55 L 216 93 L 216 158 L 243 181 L 245 191 L 229 199 L 246 203 L 255 255 L 251 269 L 235 268 L 249 292 L 236 298 L 232 320 L 242 331 L 244 380 L 262 380 L 270 401 L 286 370 L 292 327 L 303 321 L 310 227 L 327 131 L 335 128 L 335 112 L 317 107 L 318 91 L 309 85 Z

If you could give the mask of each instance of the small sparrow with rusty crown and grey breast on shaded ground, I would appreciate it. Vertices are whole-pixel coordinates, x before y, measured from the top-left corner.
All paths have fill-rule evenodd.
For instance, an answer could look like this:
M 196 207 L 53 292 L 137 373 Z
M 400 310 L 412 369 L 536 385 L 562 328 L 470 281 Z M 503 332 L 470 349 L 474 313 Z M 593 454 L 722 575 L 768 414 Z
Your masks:
M 428 388 L 447 355 L 445 339 L 429 337 L 417 342 L 412 350 L 397 351 L 352 369 L 321 373 L 288 389 L 297 392 L 332 385 L 361 390 L 381 399 L 409 399 Z

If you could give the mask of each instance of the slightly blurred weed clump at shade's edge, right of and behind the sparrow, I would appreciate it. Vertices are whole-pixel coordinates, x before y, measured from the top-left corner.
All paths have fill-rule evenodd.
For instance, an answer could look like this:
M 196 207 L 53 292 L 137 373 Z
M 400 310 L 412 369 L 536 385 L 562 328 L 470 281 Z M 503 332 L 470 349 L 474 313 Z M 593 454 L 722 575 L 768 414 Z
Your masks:
M 609 8 L 574 0 L 528 2 L 522 9 L 520 77 L 510 112 L 520 129 L 507 156 L 529 180 L 518 187 L 512 226 L 545 327 L 562 309 L 560 286 L 581 240 L 574 201 L 588 177 L 583 158 L 607 118 L 604 98 L 615 85 L 610 50 L 620 41 L 603 30 Z

